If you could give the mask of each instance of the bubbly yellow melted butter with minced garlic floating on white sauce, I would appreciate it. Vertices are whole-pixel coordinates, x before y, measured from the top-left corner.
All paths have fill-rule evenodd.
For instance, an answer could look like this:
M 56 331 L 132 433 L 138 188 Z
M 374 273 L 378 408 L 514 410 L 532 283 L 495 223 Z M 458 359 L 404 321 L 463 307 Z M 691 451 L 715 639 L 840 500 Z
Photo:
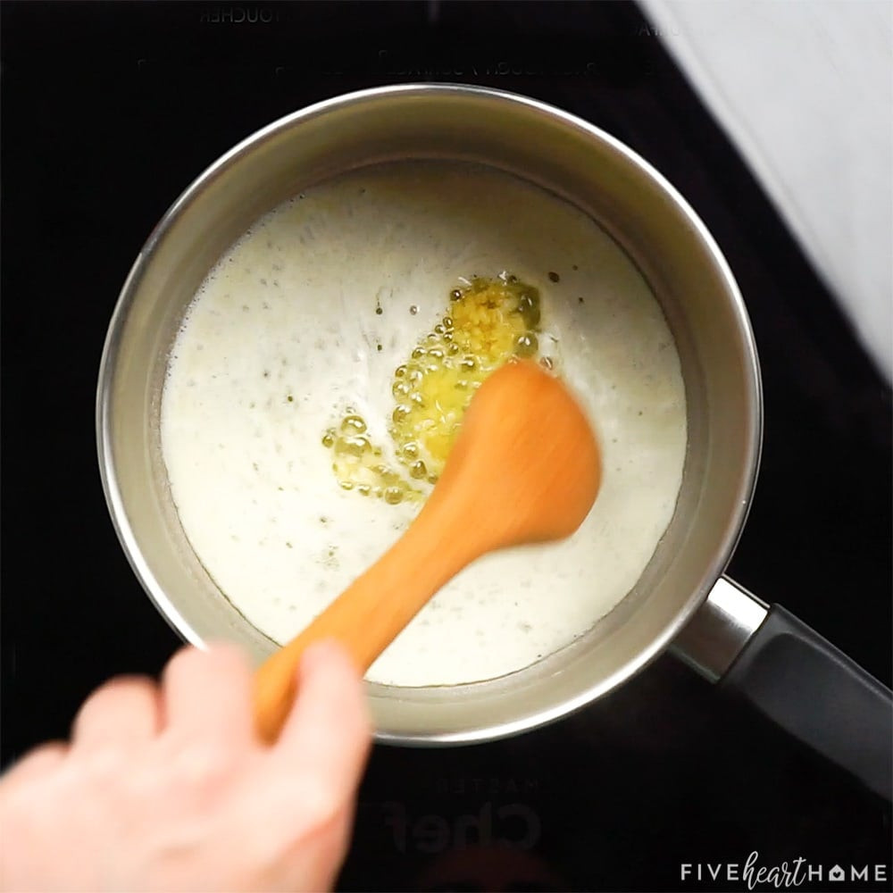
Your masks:
M 537 288 L 504 273 L 462 280 L 449 298 L 440 321 L 394 370 L 388 434 L 396 463 L 382 460 L 383 449 L 353 407 L 323 434 L 341 488 L 390 505 L 424 497 L 419 484 L 437 482 L 474 392 L 513 356 L 538 354 Z M 551 358 L 541 362 L 553 368 Z

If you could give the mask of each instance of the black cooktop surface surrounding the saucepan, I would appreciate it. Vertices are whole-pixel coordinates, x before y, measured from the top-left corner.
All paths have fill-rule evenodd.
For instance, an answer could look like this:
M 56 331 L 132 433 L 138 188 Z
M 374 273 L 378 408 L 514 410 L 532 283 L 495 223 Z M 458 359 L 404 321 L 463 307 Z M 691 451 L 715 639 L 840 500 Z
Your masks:
M 889 684 L 889 388 L 635 6 L 5 3 L 2 16 L 4 765 L 63 736 L 102 680 L 157 672 L 179 645 L 121 553 L 96 467 L 99 356 L 139 247 L 263 124 L 411 80 L 561 106 L 688 198 L 739 280 L 764 369 L 763 467 L 730 573 Z M 680 863 L 755 849 L 766 865 L 889 865 L 889 831 L 880 800 L 664 657 L 546 730 L 376 747 L 341 885 L 743 889 L 682 882 Z M 487 851 L 488 877 L 466 845 Z

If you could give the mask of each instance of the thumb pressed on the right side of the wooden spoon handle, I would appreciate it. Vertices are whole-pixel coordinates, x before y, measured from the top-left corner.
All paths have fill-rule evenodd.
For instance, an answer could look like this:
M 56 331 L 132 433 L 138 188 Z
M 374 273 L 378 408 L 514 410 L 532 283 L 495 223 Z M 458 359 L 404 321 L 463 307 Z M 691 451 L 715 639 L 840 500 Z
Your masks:
M 274 749 L 314 776 L 322 790 L 347 799 L 359 783 L 370 745 L 363 682 L 354 664 L 333 641 L 309 647 L 295 705 Z

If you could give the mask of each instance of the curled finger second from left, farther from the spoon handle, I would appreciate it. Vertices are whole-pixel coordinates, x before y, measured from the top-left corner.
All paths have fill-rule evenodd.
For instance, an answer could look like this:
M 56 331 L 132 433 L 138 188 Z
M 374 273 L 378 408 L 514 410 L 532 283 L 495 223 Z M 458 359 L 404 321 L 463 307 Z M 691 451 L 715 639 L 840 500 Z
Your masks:
M 161 721 L 158 689 L 152 680 L 121 677 L 88 697 L 75 717 L 72 754 L 98 748 L 127 749 L 154 738 Z

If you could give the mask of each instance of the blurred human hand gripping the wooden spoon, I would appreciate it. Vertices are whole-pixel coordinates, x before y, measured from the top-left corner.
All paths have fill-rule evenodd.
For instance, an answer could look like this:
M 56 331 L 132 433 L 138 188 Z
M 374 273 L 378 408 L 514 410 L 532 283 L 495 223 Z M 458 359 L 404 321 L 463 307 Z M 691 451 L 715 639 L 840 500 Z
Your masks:
M 360 680 L 308 648 L 276 744 L 255 737 L 236 647 L 184 648 L 160 686 L 121 678 L 81 707 L 71 743 L 0 780 L 0 886 L 26 890 L 323 890 L 346 855 L 370 747 Z

